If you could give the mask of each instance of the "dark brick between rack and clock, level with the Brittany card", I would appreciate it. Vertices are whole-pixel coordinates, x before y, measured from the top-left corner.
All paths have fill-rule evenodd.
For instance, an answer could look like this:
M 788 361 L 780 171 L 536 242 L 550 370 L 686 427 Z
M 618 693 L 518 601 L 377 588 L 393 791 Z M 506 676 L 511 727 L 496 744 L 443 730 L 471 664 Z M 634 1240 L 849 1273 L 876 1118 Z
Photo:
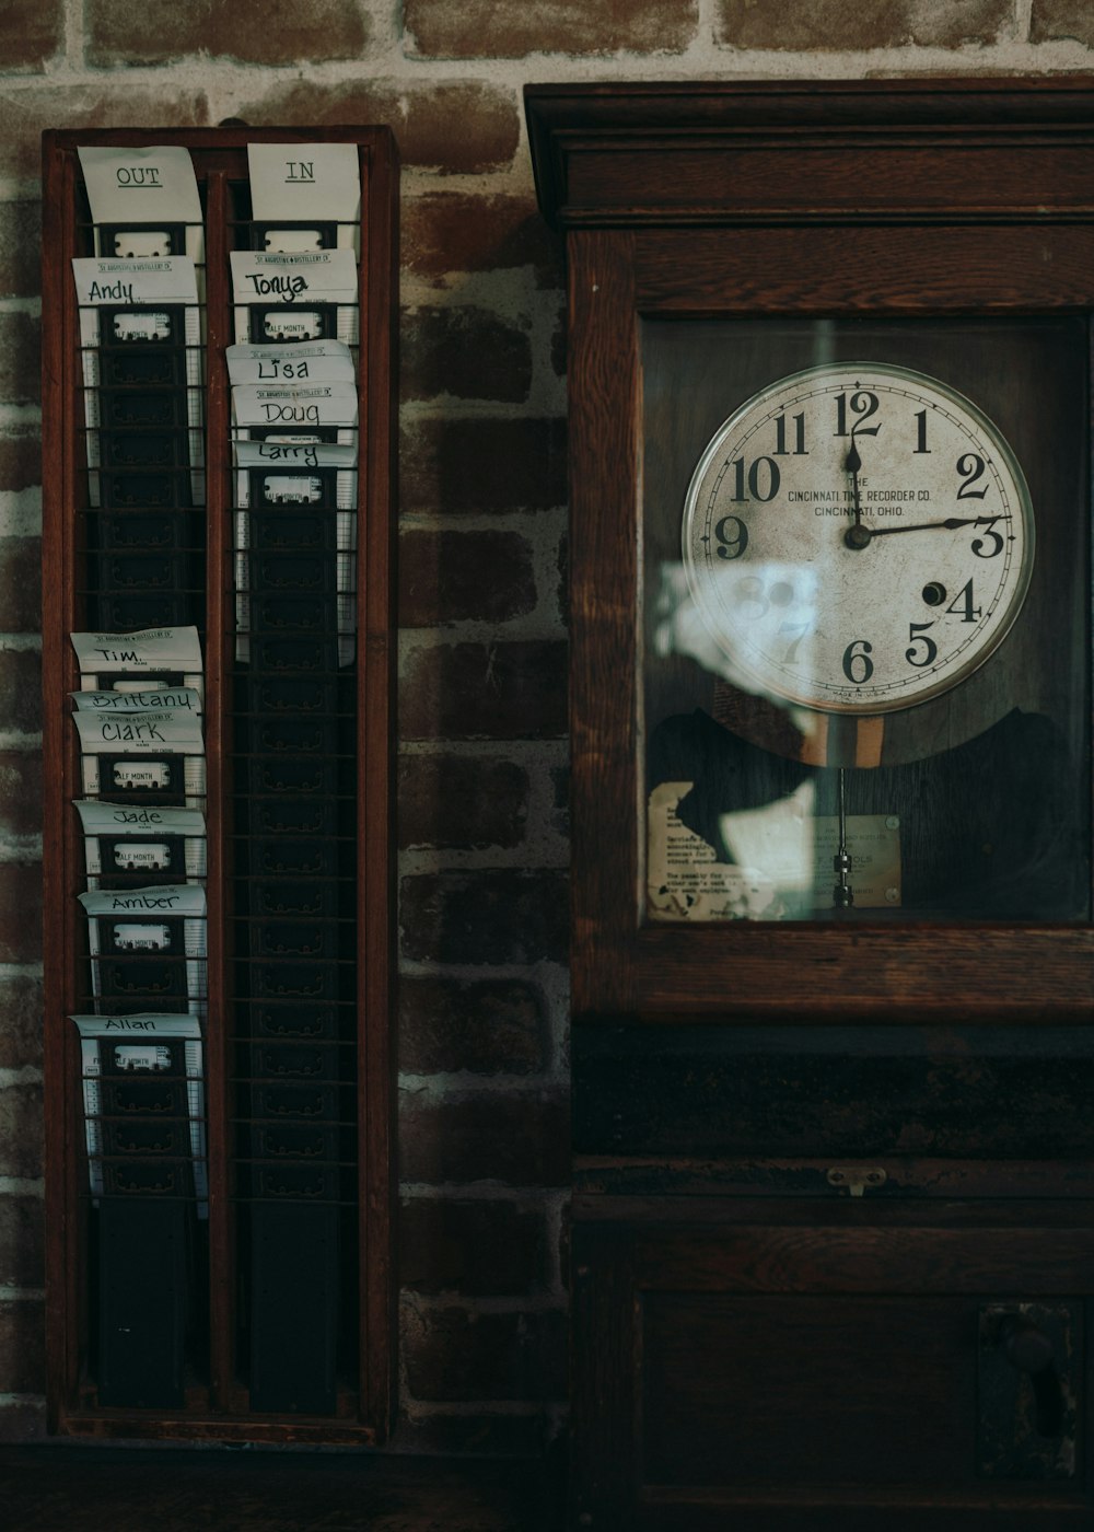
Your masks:
M 403 738 L 561 738 L 565 660 L 565 643 L 552 640 L 414 650 L 400 688 Z

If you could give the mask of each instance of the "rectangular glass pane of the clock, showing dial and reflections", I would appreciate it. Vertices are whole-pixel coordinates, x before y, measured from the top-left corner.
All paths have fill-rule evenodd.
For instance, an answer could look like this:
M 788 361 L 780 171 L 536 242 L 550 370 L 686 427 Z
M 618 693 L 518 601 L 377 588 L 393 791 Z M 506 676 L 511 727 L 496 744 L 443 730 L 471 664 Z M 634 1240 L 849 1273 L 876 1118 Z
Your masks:
M 642 322 L 645 918 L 1089 918 L 1082 319 Z

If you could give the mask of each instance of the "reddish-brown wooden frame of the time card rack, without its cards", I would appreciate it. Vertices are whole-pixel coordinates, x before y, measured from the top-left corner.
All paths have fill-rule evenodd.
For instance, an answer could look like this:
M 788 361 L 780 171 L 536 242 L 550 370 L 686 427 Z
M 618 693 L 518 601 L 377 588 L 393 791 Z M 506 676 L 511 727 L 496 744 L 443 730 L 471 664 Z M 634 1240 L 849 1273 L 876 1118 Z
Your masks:
M 273 680 L 264 680 L 256 673 L 256 651 L 251 651 L 248 671 L 247 657 L 236 645 L 241 611 L 241 591 L 236 588 L 241 565 L 234 553 L 237 470 L 225 346 L 241 339 L 234 328 L 228 256 L 234 248 L 251 248 L 250 142 L 351 144 L 357 150 L 362 182 L 357 340 L 352 346 L 359 401 L 357 542 L 351 555 L 357 631 L 352 653 L 346 656 L 343 651 L 337 660 L 337 676 L 288 676 L 285 685 L 277 683 L 280 691 Z M 72 801 L 83 797 L 83 783 L 67 700 L 80 688 L 69 636 L 89 628 L 101 631 L 103 624 L 97 617 L 109 610 L 104 599 L 109 591 L 97 588 L 109 559 L 103 559 L 104 544 L 97 544 L 95 538 L 109 538 L 109 533 L 97 530 L 101 512 L 89 498 L 84 374 L 72 257 L 95 253 L 78 147 L 161 144 L 181 146 L 188 152 L 205 230 L 204 352 L 196 380 L 204 414 L 204 504 L 198 499 L 185 512 L 193 538 L 178 565 L 190 571 L 182 579 L 193 581 L 193 588 L 164 591 L 162 601 L 165 620 L 185 620 L 178 616 L 185 613 L 188 620 L 198 624 L 204 659 L 208 1218 L 207 1227 L 201 1229 L 190 1219 L 187 1238 L 192 1247 L 179 1258 L 188 1275 L 181 1288 L 185 1313 L 176 1316 L 181 1325 L 179 1383 L 176 1391 L 169 1390 L 178 1397 L 141 1406 L 136 1385 L 123 1385 L 120 1391 L 115 1385 L 112 1394 L 101 1374 L 101 1325 L 107 1322 L 103 1316 L 110 1313 L 109 1324 L 124 1325 L 124 1314 L 120 1316 L 116 1308 L 110 1311 L 110 1295 L 103 1290 L 104 1273 L 110 1267 L 101 1264 L 98 1250 L 103 1244 L 103 1213 L 89 1195 L 81 1054 L 77 1030 L 69 1020 L 72 1014 L 92 1008 L 87 919 L 77 902 L 77 893 L 86 887 L 86 869 L 81 827 L 72 807 Z M 43 863 L 51 1429 L 86 1437 L 375 1443 L 389 1429 L 394 1400 L 391 760 L 398 270 L 395 146 L 389 132 L 378 127 L 47 132 L 43 136 Z M 139 386 L 130 386 L 130 397 L 139 401 L 150 395 Z M 276 509 L 274 496 L 271 513 Z M 146 510 L 136 506 L 135 525 L 139 525 Z M 285 524 L 291 510 L 283 510 Z M 329 507 L 317 510 L 311 522 L 306 515 L 297 515 L 293 535 L 303 539 L 300 548 L 311 548 L 313 544 L 332 548 L 323 530 L 325 524 L 332 525 L 332 519 Z M 267 524 L 273 525 L 273 521 Z M 288 578 L 288 565 L 282 556 L 287 544 L 280 533 L 273 536 L 270 547 L 268 567 L 282 582 Z M 308 564 L 305 552 L 296 558 L 300 571 L 319 568 L 319 562 Z M 142 567 L 139 561 L 124 565 L 121 556 L 115 562 L 123 570 Z M 323 578 L 329 581 L 332 553 L 328 565 Z M 256 567 L 251 565 L 253 570 Z M 303 584 L 297 584 L 299 588 L 290 581 L 283 611 L 305 610 Z M 329 590 L 326 597 L 331 597 L 331 607 Z M 251 601 L 256 602 L 257 594 Z M 280 620 L 276 604 L 270 610 L 276 625 Z M 253 645 L 257 642 L 253 639 Z M 332 653 L 334 642 L 331 633 L 320 634 L 316 653 Z M 308 691 L 313 682 L 314 689 Z M 329 974 L 339 974 L 337 994 L 329 1007 L 316 1005 L 311 1013 L 314 1019 L 322 1011 L 326 1022 L 337 1017 L 331 1022 L 332 1030 L 326 1031 L 326 1022 L 306 1023 L 303 1008 L 310 982 L 300 979 L 294 959 L 276 951 L 277 931 L 287 927 L 270 921 L 260 925 L 260 912 L 247 904 L 248 890 L 260 889 L 268 912 L 277 915 L 277 879 L 271 881 L 270 875 L 264 881 L 256 872 L 260 850 L 256 840 L 260 810 L 256 804 L 262 801 L 256 783 L 260 786 L 265 769 L 271 792 L 285 786 L 274 780 L 273 757 L 262 754 L 267 749 L 260 743 L 265 725 L 256 725 L 256 708 L 260 711 L 256 697 L 264 696 L 264 686 L 265 696 L 276 697 L 271 706 L 291 714 L 288 732 L 279 735 L 280 749 L 287 748 L 287 738 L 297 737 L 299 749 L 306 751 L 308 709 L 316 697 L 336 699 L 329 703 L 336 709 L 329 714 L 336 746 L 328 748 L 326 764 L 320 764 L 319 771 L 320 775 L 332 774 L 337 789 L 337 795 L 323 791 L 323 810 L 329 810 L 337 823 L 322 832 L 329 832 L 337 847 L 337 876 L 328 878 L 329 869 L 325 867 L 323 876 L 311 884 L 319 902 L 300 902 L 308 869 L 297 869 L 296 882 L 291 872 L 280 875 L 285 890 L 280 916 L 285 910 L 291 913 L 293 899 L 305 925 L 320 910 L 308 927 L 316 933 L 311 958 L 310 942 L 300 947 L 299 938 L 297 956 L 303 951 L 300 962 L 313 962 L 310 973 L 316 987 L 326 984 Z M 294 686 L 297 691 L 291 691 Z M 305 696 L 308 700 L 293 712 L 294 699 Z M 297 734 L 293 735 L 293 731 Z M 287 771 L 293 771 L 291 763 Z M 326 777 L 322 780 L 326 781 Z M 300 800 L 294 804 L 299 809 Z M 290 840 L 283 835 L 282 846 L 288 849 Z M 339 892 L 328 899 L 323 890 L 331 882 Z M 274 962 L 287 964 L 280 971 L 296 974 L 287 985 L 302 985 L 302 999 L 300 1010 L 294 1011 L 285 999 L 288 988 L 282 985 L 280 1000 L 276 1002 L 280 1011 L 267 1008 L 274 1017 L 273 1040 L 262 1043 L 256 1022 L 260 990 L 256 988 L 254 973 L 259 945 L 267 935 L 274 944 Z M 323 956 L 316 958 L 320 947 Z M 331 958 L 331 953 L 336 956 Z M 322 1056 L 325 1062 L 310 1062 L 313 1056 L 316 1060 Z M 331 1059 L 340 1060 L 339 1065 L 331 1065 Z M 271 1071 L 265 1080 L 264 1069 Z M 299 1094 L 300 1083 L 294 1086 L 294 1071 L 305 1085 L 316 1071 L 320 1082 L 329 1082 L 314 1089 L 314 1100 L 320 1103 L 316 1111 L 323 1120 L 329 1118 L 329 1123 L 320 1123 L 314 1151 L 305 1147 L 303 1126 L 293 1126 L 291 1121 L 297 1108 L 305 1118 L 311 1111 L 306 1103 L 300 1105 L 302 1097 L 294 1105 L 293 1089 Z M 336 1100 L 337 1105 L 331 1106 Z M 274 1124 L 290 1124 L 280 1131 L 279 1147 L 268 1134 L 260 1137 L 268 1124 L 257 1120 L 270 1114 L 274 1114 Z M 267 1147 L 259 1149 L 259 1144 Z M 316 1175 L 308 1174 L 306 1163 L 313 1152 L 331 1161 Z M 283 1170 L 277 1170 L 276 1160 L 270 1160 L 264 1169 L 254 1163 L 260 1154 L 280 1155 L 285 1164 L 294 1155 L 303 1155 L 303 1160 L 296 1169 Z M 274 1190 L 268 1192 L 274 1181 Z M 274 1201 L 270 1201 L 271 1196 Z M 277 1196 L 283 1200 L 280 1204 Z M 314 1207 L 305 1207 L 316 1196 L 329 1209 L 319 1209 L 317 1218 L 311 1216 L 317 1212 Z M 153 1203 L 155 1196 L 146 1195 L 141 1204 L 149 1218 L 147 1270 L 156 1281 L 173 1281 L 175 1272 L 181 1270 L 172 1265 L 175 1258 L 164 1259 L 162 1253 L 156 1256 L 153 1252 L 155 1230 L 167 1227 L 156 1223 L 158 1207 Z M 279 1219 L 283 1221 L 279 1224 Z M 205 1224 L 205 1219 L 201 1223 Z M 130 1227 L 139 1229 L 139 1218 L 130 1221 Z M 280 1255 L 276 1249 L 279 1227 Z M 329 1246 L 325 1255 L 310 1250 L 306 1238 L 294 1238 L 293 1230 L 299 1236 L 308 1227 L 319 1230 Z M 139 1239 L 133 1249 L 138 1259 L 146 1258 Z M 310 1261 L 314 1265 L 310 1267 Z M 314 1278 L 311 1290 L 310 1272 Z M 322 1313 L 322 1319 L 316 1321 L 316 1313 Z M 316 1347 L 326 1353 L 319 1373 L 308 1354 Z M 296 1379 L 279 1373 L 279 1348 L 294 1357 L 290 1373 L 296 1368 Z M 316 1377 L 320 1377 L 319 1386 L 313 1386 Z

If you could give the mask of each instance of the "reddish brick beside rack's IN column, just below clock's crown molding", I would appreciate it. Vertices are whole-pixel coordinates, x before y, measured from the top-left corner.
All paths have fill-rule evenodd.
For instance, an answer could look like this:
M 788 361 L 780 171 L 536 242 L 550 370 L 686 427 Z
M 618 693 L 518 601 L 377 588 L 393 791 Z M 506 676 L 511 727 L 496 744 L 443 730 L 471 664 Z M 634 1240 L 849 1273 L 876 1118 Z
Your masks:
M 400 256 L 415 276 L 533 267 L 544 288 L 565 288 L 562 241 L 532 198 L 434 192 L 408 198 Z

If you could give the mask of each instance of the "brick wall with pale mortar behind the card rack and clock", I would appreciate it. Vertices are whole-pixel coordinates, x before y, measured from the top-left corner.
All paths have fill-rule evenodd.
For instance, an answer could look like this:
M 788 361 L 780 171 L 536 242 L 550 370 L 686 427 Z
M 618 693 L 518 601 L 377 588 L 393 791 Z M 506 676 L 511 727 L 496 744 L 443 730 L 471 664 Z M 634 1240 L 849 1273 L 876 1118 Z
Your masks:
M 568 1175 L 564 276 L 521 89 L 1091 69 L 1089 0 L 0 8 L 0 1439 L 43 1429 L 40 130 L 398 136 L 401 1442 L 519 1452 L 564 1408 Z

